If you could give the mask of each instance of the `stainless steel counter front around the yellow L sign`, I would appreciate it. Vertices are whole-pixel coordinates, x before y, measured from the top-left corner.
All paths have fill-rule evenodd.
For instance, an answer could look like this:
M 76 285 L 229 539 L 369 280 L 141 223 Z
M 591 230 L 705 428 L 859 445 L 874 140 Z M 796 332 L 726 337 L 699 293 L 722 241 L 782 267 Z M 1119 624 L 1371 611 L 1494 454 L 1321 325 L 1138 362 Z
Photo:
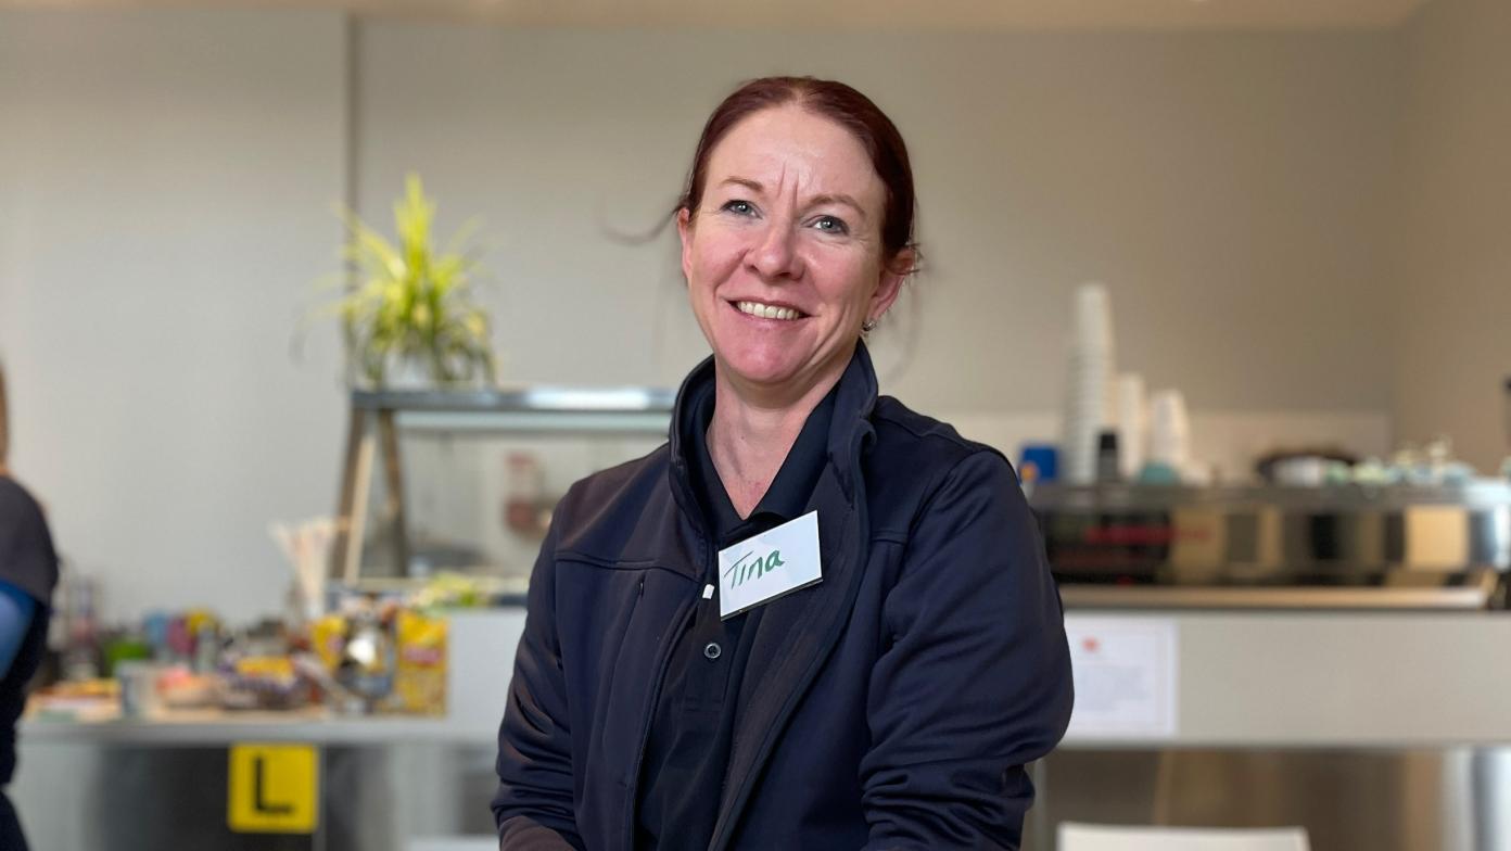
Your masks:
M 258 736 L 245 744 L 289 741 Z M 411 851 L 426 837 L 493 833 L 491 745 L 379 736 L 310 742 L 319 789 L 316 824 L 305 833 L 231 828 L 230 745 L 163 738 L 23 739 L 21 769 L 9 795 L 39 851 Z M 284 806 L 287 794 L 273 784 L 263 795 Z

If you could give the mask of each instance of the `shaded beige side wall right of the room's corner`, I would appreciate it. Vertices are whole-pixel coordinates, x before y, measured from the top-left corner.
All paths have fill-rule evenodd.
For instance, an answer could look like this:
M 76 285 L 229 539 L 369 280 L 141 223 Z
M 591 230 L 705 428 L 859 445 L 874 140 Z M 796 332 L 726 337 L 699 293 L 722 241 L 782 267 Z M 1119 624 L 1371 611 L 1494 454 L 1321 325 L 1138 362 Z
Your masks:
M 1395 420 L 1494 469 L 1511 452 L 1511 3 L 1434 0 L 1405 30 Z

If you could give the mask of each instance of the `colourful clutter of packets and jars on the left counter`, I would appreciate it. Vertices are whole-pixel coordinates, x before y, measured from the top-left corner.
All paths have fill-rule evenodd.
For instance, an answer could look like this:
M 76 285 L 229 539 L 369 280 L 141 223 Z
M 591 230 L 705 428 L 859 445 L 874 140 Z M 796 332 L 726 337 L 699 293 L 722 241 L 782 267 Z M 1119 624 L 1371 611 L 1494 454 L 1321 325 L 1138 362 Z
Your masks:
M 295 612 L 231 629 L 209 611 L 157 612 L 103 632 L 89 606 L 68 608 L 65 597 L 56 682 L 33 694 L 27 715 L 88 723 L 447 713 L 447 615 L 485 602 L 474 580 L 440 577 L 390 594 L 332 590 L 329 599 L 335 614 L 314 620 Z

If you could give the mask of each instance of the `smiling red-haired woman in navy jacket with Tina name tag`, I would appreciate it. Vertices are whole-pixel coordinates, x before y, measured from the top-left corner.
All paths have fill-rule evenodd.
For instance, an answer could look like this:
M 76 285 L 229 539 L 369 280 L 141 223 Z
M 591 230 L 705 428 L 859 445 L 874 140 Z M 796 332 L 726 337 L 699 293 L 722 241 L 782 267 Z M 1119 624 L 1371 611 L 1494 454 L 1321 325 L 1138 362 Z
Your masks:
M 1008 463 L 876 396 L 861 337 L 917 257 L 913 197 L 842 83 L 756 80 L 709 118 L 677 230 L 713 357 L 666 446 L 556 509 L 502 848 L 1018 846 L 1070 661 Z

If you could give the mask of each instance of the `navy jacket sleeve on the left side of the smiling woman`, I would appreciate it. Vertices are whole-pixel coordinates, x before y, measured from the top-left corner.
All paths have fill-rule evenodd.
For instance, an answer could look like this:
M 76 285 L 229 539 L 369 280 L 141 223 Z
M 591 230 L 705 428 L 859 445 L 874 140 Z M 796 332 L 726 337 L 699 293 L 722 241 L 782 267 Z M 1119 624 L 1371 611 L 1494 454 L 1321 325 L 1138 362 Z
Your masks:
M 582 849 L 573 803 L 567 683 L 556 639 L 556 532 L 530 573 L 524 635 L 499 729 L 493 816 L 505 851 Z

